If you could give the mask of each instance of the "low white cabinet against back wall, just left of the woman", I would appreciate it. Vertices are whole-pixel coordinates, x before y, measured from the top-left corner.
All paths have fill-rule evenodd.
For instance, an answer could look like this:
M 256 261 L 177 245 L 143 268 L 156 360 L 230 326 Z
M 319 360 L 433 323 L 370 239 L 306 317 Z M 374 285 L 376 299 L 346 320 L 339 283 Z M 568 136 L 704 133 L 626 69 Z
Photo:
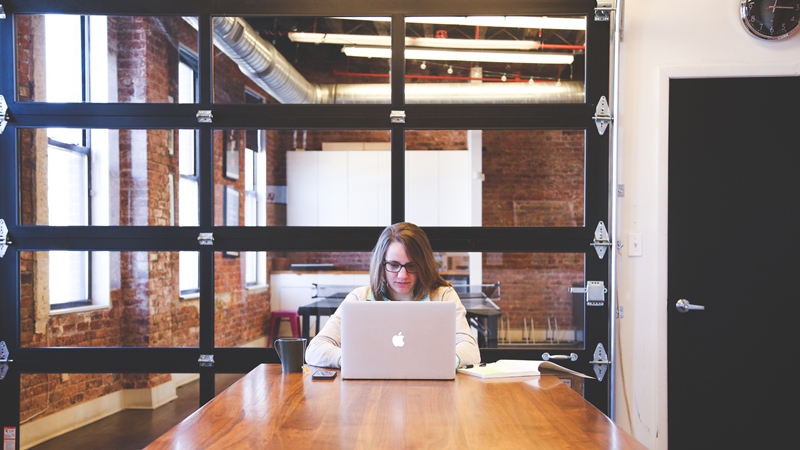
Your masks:
M 270 276 L 272 311 L 297 311 L 297 308 L 320 300 L 314 298 L 314 283 L 337 286 L 366 286 L 368 273 L 276 273 Z M 320 317 L 320 328 L 327 317 Z M 311 336 L 314 335 L 316 318 L 311 318 Z M 291 328 L 286 322 L 281 324 L 279 336 L 290 336 Z

